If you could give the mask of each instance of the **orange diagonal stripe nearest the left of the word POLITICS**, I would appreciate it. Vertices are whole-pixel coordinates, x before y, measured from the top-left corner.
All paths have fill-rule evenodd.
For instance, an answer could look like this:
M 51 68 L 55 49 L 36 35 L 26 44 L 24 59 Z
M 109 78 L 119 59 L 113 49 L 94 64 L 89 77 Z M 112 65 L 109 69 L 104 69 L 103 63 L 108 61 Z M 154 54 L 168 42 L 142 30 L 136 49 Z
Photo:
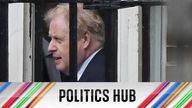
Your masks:
M 49 83 L 28 105 L 26 108 L 33 108 L 35 104 L 51 89 L 55 83 Z

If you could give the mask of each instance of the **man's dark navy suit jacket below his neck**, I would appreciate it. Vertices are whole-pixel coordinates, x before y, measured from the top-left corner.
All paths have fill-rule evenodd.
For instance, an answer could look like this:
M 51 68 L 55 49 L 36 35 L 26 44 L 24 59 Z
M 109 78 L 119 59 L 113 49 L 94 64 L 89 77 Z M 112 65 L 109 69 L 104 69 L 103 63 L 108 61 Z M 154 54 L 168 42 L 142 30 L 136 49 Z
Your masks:
M 105 82 L 105 52 L 101 49 L 86 67 L 79 82 Z

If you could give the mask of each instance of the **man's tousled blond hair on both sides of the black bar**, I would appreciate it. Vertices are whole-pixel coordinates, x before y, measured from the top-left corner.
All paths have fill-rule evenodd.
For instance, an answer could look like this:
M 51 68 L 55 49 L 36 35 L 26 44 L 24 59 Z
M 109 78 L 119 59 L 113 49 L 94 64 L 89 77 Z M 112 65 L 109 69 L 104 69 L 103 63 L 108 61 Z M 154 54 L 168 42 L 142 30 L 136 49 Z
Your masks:
M 55 8 L 50 9 L 45 15 L 45 22 L 49 26 L 52 18 L 58 14 L 63 14 L 69 25 L 69 4 L 61 3 Z M 102 18 L 98 15 L 95 10 L 83 9 L 83 4 L 77 4 L 77 33 L 78 39 L 83 34 L 89 31 L 93 34 L 93 37 L 100 41 L 102 44 L 105 42 L 105 25 Z

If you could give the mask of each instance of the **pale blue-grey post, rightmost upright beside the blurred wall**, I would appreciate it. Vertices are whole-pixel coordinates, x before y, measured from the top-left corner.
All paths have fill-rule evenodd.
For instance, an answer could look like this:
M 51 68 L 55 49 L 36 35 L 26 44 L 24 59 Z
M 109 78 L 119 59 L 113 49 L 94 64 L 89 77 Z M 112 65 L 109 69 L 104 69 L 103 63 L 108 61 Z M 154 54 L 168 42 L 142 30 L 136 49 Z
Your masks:
M 150 10 L 150 81 L 166 81 L 167 7 Z

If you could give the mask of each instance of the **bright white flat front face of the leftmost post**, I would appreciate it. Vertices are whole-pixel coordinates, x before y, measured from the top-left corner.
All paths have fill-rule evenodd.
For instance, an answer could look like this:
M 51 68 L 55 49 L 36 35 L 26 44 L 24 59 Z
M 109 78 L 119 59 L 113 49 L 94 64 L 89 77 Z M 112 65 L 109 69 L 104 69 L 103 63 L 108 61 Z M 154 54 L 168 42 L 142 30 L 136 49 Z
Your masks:
M 9 81 L 23 81 L 23 3 L 9 4 Z

